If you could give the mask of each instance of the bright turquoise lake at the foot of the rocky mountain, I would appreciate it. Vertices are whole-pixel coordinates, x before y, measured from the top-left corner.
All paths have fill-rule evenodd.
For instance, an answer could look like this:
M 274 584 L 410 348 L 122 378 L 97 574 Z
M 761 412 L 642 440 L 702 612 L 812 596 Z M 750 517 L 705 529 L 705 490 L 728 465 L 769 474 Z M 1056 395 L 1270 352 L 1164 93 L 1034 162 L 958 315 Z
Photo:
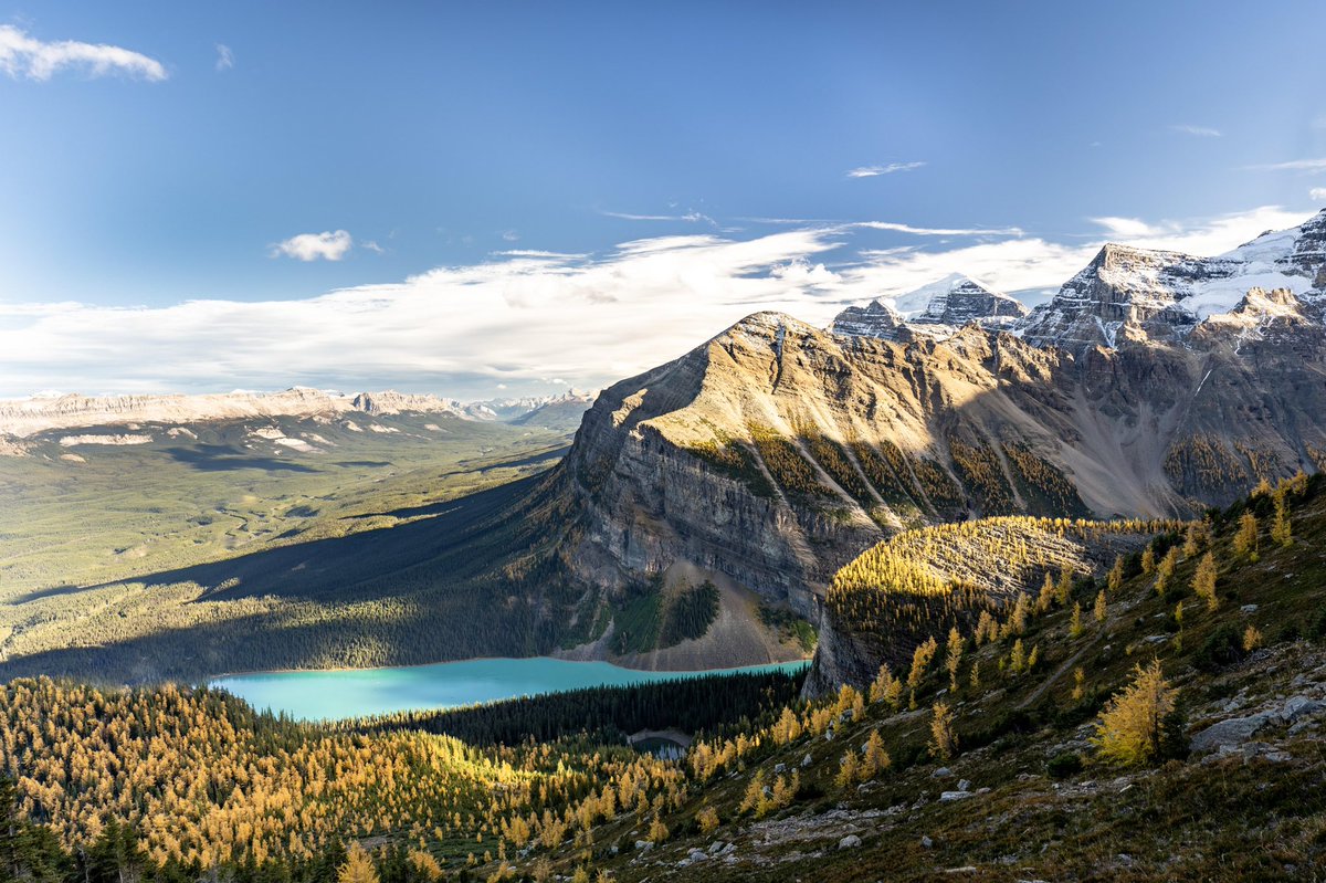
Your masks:
M 735 672 L 797 672 L 809 663 L 752 666 L 713 671 L 636 671 L 605 662 L 564 659 L 468 659 L 351 671 L 282 671 L 231 675 L 211 681 L 259 709 L 302 720 L 335 720 L 424 708 L 455 708 L 517 696 L 583 687 L 623 687 L 678 677 Z

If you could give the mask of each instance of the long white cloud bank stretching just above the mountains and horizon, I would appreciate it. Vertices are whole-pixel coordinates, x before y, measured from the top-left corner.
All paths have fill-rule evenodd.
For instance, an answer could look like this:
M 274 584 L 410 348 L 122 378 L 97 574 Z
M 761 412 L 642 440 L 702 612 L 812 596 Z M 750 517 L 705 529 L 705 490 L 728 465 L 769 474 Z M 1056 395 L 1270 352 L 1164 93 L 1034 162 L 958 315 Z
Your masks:
M 493 253 L 398 282 L 290 301 L 194 300 L 156 308 L 0 301 L 0 395 L 398 387 L 483 396 L 568 382 L 601 388 L 675 358 L 741 317 L 781 310 L 823 325 L 845 304 L 911 292 L 955 272 L 1037 300 L 1106 240 L 1216 255 L 1302 212 L 1260 207 L 1196 221 L 1098 217 L 1070 241 L 1020 229 L 941 231 L 940 248 L 854 247 L 862 229 L 818 224 L 747 239 L 674 235 L 601 255 Z M 292 237 L 298 260 L 337 260 L 346 231 Z

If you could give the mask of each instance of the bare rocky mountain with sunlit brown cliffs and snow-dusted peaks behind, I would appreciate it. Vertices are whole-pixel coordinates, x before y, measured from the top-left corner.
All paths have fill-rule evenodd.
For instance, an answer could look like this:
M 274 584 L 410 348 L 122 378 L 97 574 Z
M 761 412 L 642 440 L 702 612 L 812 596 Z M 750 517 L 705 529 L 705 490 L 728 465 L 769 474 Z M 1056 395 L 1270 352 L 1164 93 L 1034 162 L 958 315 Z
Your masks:
M 564 559 L 609 591 L 683 562 L 815 615 L 908 528 L 1188 516 L 1323 468 L 1323 229 L 1219 259 L 1109 247 L 1030 316 L 964 280 L 830 331 L 752 316 L 599 396 L 557 477 Z M 853 640 L 821 654 L 869 659 Z

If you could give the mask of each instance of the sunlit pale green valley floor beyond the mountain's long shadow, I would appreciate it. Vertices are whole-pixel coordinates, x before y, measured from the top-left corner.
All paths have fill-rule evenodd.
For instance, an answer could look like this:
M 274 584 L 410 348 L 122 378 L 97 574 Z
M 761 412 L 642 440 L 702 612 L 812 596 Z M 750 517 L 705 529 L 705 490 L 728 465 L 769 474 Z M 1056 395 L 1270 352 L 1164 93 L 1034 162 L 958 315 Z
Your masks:
M 436 414 L 357 416 L 358 432 L 297 418 L 194 424 L 196 439 L 147 426 L 155 442 L 126 447 L 58 444 L 123 427 L 36 436 L 30 456 L 0 457 L 0 601 L 390 526 L 546 468 L 568 442 Z M 326 444 L 300 452 L 252 432 L 269 427 Z

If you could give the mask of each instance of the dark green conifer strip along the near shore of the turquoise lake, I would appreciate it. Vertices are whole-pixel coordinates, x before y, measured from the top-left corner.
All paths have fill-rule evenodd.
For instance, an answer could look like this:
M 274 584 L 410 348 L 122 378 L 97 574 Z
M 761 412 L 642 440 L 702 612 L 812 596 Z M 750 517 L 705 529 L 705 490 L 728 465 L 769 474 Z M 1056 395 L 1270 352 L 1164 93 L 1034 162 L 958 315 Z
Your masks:
M 341 727 L 361 733 L 423 731 L 472 745 L 586 736 L 621 742 L 642 729 L 723 732 L 749 725 L 801 693 L 805 672 L 705 675 L 630 687 L 591 687 L 450 711 L 402 712 Z

